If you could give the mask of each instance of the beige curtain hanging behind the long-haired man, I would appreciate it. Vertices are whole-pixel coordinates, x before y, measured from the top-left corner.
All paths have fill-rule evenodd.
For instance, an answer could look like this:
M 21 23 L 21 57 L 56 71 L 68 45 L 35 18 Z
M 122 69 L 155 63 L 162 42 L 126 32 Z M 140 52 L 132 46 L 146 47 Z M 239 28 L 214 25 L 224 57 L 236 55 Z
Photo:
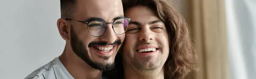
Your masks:
M 198 68 L 187 79 L 230 79 L 224 0 L 169 0 L 191 27 Z

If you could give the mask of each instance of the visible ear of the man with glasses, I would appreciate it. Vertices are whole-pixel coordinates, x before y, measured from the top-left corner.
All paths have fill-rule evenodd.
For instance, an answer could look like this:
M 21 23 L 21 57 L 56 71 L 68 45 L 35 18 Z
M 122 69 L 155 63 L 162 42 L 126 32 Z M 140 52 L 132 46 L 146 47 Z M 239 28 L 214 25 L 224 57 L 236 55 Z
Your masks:
M 67 20 L 60 18 L 57 21 L 58 31 L 64 40 L 70 40 L 68 35 L 68 23 Z

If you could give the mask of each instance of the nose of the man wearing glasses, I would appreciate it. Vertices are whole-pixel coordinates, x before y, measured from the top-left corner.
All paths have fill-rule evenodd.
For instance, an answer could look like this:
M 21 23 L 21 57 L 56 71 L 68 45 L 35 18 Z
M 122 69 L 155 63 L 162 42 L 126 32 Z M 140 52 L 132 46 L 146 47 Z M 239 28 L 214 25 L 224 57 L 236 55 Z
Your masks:
M 100 36 L 100 40 L 108 42 L 108 43 L 113 43 L 116 40 L 116 34 L 114 33 L 112 29 L 112 24 L 107 24 L 107 29 L 105 33 Z

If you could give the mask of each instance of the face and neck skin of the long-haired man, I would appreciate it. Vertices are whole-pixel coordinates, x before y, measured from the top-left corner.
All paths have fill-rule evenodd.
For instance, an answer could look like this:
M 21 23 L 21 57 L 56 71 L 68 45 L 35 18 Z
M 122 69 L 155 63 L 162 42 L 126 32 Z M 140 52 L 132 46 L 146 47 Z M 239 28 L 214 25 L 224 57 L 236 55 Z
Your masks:
M 164 63 L 169 56 L 165 24 L 145 6 L 128 9 L 125 17 L 131 18 L 122 54 L 125 79 L 164 79 Z M 157 51 L 139 53 L 137 50 L 141 46 L 154 47 Z

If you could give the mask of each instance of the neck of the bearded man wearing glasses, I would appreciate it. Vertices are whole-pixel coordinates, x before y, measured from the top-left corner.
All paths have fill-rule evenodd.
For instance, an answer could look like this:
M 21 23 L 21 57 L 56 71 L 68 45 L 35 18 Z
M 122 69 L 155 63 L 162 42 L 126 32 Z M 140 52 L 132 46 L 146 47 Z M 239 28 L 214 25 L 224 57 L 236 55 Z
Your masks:
M 72 49 L 71 49 L 72 50 Z M 75 79 L 100 79 L 102 72 L 90 67 L 86 62 L 76 56 L 73 51 L 64 49 L 64 52 L 59 57 L 67 71 Z

